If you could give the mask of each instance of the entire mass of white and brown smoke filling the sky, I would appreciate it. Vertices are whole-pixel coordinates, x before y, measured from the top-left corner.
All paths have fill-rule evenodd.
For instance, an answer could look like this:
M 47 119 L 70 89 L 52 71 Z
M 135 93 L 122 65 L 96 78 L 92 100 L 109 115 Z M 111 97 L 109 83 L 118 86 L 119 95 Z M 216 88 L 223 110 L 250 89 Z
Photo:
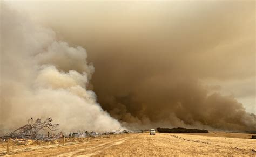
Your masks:
M 254 3 L 2 4 L 0 128 L 256 131 Z

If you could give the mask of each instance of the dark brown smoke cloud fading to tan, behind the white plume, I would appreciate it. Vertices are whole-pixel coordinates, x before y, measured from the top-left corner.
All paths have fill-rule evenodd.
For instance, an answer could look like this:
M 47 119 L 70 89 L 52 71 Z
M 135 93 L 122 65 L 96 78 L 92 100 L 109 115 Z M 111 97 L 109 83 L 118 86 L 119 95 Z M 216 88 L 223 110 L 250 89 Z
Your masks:
M 48 2 L 20 8 L 87 49 L 95 66 L 91 89 L 126 126 L 256 131 L 254 3 Z M 209 80 L 249 82 L 231 90 L 252 97 L 253 110 Z

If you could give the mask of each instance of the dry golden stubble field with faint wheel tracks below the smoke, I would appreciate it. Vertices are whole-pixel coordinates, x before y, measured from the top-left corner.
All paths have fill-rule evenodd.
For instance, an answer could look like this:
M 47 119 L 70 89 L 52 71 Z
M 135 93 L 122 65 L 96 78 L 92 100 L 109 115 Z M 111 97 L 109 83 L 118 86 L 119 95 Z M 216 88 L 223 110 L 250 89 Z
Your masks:
M 29 146 L 11 150 L 17 156 L 170 156 L 256 155 L 256 140 L 190 134 L 126 134 L 66 146 Z

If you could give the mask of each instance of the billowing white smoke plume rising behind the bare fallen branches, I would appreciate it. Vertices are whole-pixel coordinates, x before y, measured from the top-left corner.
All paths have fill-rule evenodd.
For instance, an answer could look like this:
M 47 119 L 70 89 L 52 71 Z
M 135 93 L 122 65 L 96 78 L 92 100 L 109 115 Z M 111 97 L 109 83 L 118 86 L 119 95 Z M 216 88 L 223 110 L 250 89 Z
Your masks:
M 84 48 L 57 40 L 4 3 L 0 35 L 0 134 L 30 117 L 52 117 L 65 131 L 122 129 L 86 89 L 94 67 Z

